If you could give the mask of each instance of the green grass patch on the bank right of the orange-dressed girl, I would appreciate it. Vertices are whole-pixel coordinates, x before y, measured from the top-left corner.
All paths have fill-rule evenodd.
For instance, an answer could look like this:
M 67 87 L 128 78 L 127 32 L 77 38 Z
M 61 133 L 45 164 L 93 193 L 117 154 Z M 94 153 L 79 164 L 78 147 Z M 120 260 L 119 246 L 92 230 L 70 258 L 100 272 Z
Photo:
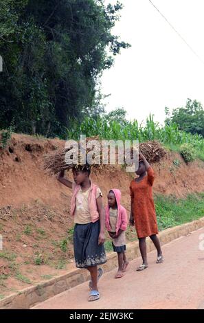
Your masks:
M 204 216 L 204 193 L 189 194 L 185 199 L 159 195 L 155 206 L 159 230 L 164 230 Z

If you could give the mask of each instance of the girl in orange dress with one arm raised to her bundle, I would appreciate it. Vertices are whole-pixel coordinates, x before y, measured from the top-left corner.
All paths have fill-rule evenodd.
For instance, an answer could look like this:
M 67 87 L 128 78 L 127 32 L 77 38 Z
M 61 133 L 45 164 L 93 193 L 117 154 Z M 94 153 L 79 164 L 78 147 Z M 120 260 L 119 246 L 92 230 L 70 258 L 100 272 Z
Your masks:
M 146 237 L 149 236 L 157 249 L 157 263 L 163 263 L 163 254 L 159 242 L 155 204 L 152 197 L 152 185 L 155 180 L 155 172 L 148 164 L 148 161 L 139 153 L 139 168 L 136 171 L 139 175 L 131 181 L 131 216 L 130 224 L 136 227 L 139 239 L 139 249 L 143 263 L 137 271 L 148 267 L 146 254 Z

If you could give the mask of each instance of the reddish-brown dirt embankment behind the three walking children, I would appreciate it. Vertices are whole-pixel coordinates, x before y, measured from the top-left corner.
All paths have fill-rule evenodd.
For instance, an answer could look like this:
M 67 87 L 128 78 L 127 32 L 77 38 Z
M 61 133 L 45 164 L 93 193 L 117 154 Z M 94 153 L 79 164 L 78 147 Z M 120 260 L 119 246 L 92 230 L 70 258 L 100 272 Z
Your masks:
M 73 256 L 71 190 L 43 171 L 43 155 L 64 144 L 61 140 L 15 134 L 8 147 L 0 149 L 0 297 L 62 273 L 67 259 Z M 179 154 L 168 152 L 152 166 L 156 172 L 155 194 L 185 197 L 204 192 L 203 162 L 186 165 Z M 133 176 L 111 166 L 94 172 L 91 178 L 100 186 L 104 203 L 111 188 L 120 188 L 122 204 L 129 210 Z M 128 238 L 134 236 L 134 229 L 129 230 Z

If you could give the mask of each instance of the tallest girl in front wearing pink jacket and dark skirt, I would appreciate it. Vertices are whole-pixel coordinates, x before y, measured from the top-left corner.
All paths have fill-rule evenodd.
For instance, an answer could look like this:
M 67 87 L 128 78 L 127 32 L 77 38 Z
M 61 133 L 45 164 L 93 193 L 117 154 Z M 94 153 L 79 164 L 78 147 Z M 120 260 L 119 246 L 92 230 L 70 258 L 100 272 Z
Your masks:
M 73 233 L 73 249 L 76 267 L 86 268 L 91 274 L 89 287 L 89 302 L 98 300 L 98 279 L 102 276 L 102 269 L 98 265 L 106 263 L 104 250 L 105 214 L 102 203 L 102 192 L 89 179 L 91 168 L 89 165 L 73 168 L 74 183 L 65 179 L 65 170 L 61 170 L 58 181 L 71 188 L 71 215 L 75 223 Z

